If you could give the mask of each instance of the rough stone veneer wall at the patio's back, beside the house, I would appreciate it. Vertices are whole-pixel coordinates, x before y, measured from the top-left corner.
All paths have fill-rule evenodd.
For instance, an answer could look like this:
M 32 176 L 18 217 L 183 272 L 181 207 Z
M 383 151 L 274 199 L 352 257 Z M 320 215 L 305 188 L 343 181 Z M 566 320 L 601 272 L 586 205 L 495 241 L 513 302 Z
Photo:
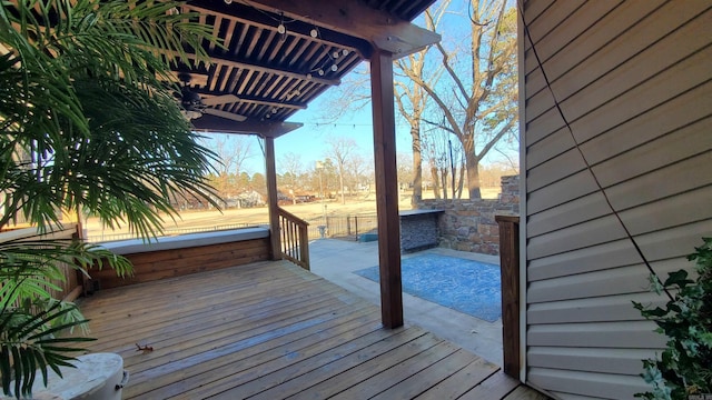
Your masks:
M 500 253 L 495 214 L 520 214 L 520 177 L 502 177 L 498 200 L 421 200 L 418 209 L 445 210 L 441 214 L 439 247 L 484 254 Z

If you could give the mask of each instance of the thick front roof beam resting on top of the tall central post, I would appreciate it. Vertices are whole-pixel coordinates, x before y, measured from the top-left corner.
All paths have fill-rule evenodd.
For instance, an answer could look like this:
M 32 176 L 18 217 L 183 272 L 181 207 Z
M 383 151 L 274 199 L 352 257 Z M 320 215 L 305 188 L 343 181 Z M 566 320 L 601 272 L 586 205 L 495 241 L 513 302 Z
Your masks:
M 364 39 L 377 49 L 400 58 L 441 40 L 441 36 L 408 21 L 378 11 L 358 0 L 293 1 L 243 0 L 244 3 L 268 12 L 284 12 L 285 17 Z M 376 57 L 376 56 L 372 56 Z

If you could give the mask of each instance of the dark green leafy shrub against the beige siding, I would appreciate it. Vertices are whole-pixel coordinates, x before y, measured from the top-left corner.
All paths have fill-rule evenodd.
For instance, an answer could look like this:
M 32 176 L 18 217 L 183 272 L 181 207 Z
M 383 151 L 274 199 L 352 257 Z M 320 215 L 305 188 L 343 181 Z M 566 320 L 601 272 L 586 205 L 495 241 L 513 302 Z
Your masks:
M 679 270 L 669 273 L 662 284 L 653 284 L 659 294 L 664 290 L 672 298 L 664 308 L 633 303 L 669 338 L 660 358 L 643 360 L 641 376 L 652 390 L 636 397 L 688 399 L 690 394 L 712 393 L 712 238 L 703 241 L 688 257 L 695 261 L 696 279 Z

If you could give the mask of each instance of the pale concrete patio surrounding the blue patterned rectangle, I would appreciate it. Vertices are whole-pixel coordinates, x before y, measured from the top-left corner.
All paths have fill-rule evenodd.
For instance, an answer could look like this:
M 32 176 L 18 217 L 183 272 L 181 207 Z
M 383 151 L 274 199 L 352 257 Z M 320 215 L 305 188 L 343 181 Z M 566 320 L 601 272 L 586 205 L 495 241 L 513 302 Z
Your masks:
M 363 297 L 374 304 L 380 303 L 378 283 L 353 273 L 353 271 L 378 264 L 377 242 L 353 242 L 337 239 L 317 239 L 309 242 L 312 272 Z M 500 264 L 496 256 L 477 254 L 443 248 L 433 248 L 403 258 L 423 253 L 458 257 L 481 262 Z M 404 317 L 409 323 L 419 326 L 463 349 L 502 366 L 502 320 L 487 322 L 437 303 L 403 293 Z

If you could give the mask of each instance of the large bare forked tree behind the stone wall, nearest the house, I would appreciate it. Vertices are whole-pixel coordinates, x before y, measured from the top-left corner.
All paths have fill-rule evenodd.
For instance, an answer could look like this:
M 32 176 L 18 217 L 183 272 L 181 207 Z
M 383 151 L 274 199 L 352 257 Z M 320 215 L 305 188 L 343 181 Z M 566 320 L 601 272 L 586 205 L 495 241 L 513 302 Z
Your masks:
M 445 0 L 438 9 L 426 11 L 427 27 L 437 31 L 435 22 L 449 6 Z M 516 12 L 507 8 L 506 0 L 471 0 L 468 17 L 467 48 L 448 50 L 443 42 L 433 47 L 447 82 L 438 79 L 433 84 L 413 68 L 402 71 L 437 104 L 444 121 L 432 123 L 454 134 L 462 144 L 469 198 L 479 198 L 481 160 L 503 137 L 515 134 Z

